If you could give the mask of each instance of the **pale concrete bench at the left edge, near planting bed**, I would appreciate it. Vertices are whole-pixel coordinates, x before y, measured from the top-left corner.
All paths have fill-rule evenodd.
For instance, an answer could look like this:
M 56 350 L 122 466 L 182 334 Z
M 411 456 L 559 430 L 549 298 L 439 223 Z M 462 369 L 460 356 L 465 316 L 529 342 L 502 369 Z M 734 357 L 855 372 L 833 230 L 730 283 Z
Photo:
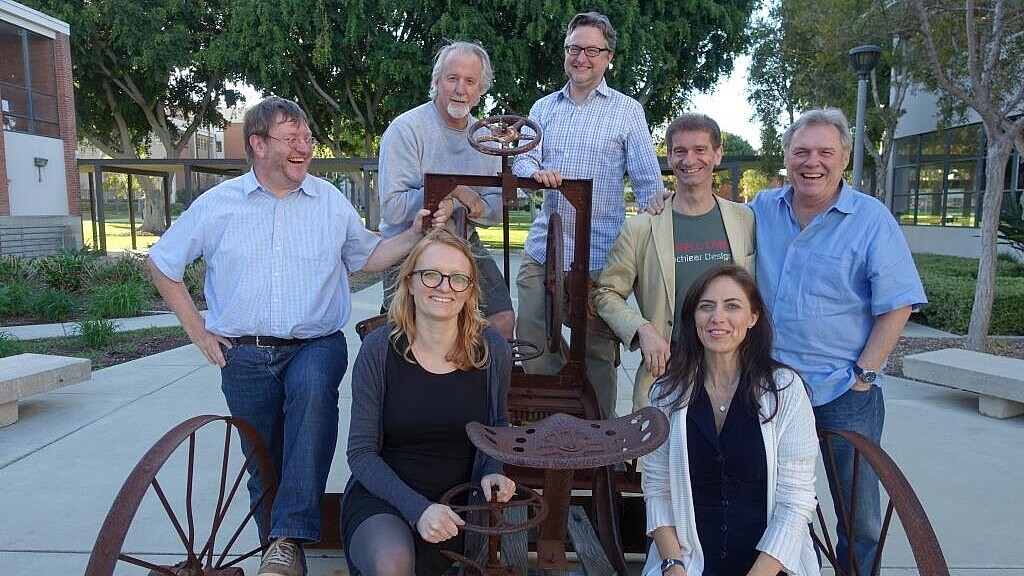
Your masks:
M 92 377 L 87 358 L 19 354 L 0 358 L 0 426 L 17 421 L 17 401 Z

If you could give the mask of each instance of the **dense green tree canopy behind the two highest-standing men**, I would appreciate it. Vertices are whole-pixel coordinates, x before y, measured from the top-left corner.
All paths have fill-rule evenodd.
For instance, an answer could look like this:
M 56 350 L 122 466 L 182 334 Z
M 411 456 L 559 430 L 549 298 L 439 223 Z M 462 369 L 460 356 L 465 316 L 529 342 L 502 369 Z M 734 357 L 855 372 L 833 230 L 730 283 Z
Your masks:
M 601 11 L 618 32 L 609 83 L 636 97 L 659 125 L 690 90 L 707 89 L 731 71 L 754 5 L 237 0 L 230 30 L 250 83 L 299 99 L 336 155 L 372 156 L 388 123 L 426 100 L 431 59 L 445 39 L 477 39 L 490 53 L 496 83 L 481 114 L 525 115 L 565 82 L 566 23 L 584 9 Z M 358 147 L 341 137 L 353 132 Z

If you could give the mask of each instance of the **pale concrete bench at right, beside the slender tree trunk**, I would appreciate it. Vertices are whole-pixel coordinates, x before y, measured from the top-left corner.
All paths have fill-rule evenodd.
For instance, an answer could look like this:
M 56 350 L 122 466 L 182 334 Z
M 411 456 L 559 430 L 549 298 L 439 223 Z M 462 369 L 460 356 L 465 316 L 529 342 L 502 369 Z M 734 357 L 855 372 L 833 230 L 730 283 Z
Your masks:
M 978 411 L 986 416 L 1024 414 L 1024 360 L 946 348 L 904 357 L 903 375 L 978 393 Z

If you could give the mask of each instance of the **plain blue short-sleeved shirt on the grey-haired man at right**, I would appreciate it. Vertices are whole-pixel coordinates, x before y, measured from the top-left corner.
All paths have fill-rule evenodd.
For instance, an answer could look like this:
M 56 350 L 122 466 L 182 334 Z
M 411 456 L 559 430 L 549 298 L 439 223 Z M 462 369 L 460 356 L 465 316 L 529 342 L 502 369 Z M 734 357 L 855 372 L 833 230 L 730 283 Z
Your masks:
M 827 404 L 853 385 L 874 318 L 928 301 L 910 249 L 889 209 L 846 182 L 804 230 L 793 187 L 764 191 L 751 207 L 775 358 L 804 376 L 814 406 Z

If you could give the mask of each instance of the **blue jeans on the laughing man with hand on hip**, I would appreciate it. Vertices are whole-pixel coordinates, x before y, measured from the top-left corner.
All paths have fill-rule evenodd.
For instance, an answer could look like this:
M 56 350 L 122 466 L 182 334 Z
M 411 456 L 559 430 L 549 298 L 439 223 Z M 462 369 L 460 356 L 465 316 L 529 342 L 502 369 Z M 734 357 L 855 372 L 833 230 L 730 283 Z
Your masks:
M 237 345 L 225 359 L 220 377 L 227 408 L 256 428 L 278 470 L 270 538 L 318 541 L 321 500 L 338 444 L 338 387 L 348 367 L 345 335 L 294 346 Z M 242 449 L 251 450 L 246 443 Z M 252 502 L 262 493 L 254 470 L 250 466 Z M 262 518 L 256 518 L 262 534 Z

